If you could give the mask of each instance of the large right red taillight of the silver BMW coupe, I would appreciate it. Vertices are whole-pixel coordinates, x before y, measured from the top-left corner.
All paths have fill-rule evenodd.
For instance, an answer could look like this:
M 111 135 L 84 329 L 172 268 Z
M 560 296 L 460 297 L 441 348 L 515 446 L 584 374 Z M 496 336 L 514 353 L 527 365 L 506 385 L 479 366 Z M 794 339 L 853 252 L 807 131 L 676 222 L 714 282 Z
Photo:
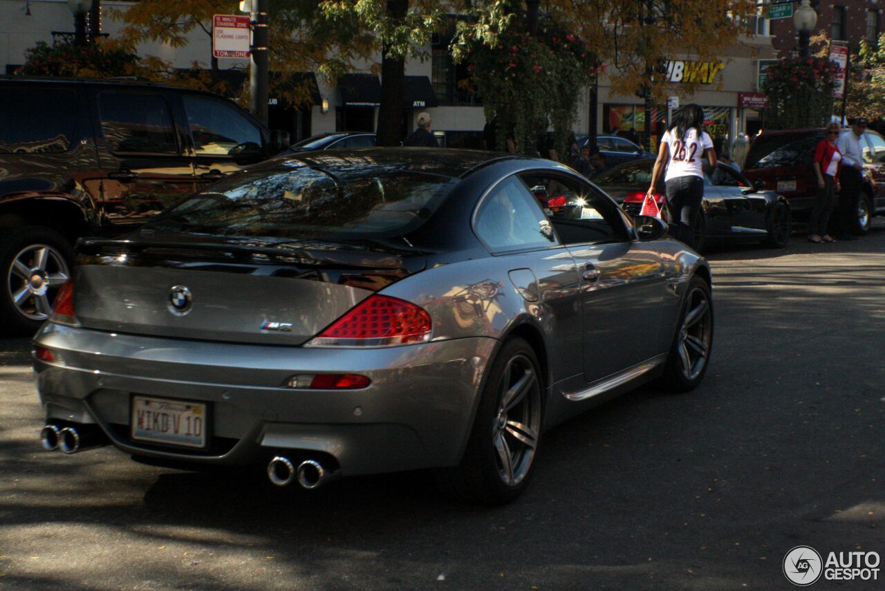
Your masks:
M 315 347 L 388 347 L 430 340 L 430 315 L 414 303 L 370 295 L 315 336 Z

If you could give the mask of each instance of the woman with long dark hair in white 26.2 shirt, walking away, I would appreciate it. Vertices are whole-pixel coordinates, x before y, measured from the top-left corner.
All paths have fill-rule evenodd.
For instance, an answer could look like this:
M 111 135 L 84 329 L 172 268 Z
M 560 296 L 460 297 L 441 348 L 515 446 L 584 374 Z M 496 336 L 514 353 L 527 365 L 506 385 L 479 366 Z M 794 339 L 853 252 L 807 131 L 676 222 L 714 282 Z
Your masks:
M 703 158 L 716 166 L 716 150 L 704 131 L 704 109 L 687 104 L 673 115 L 673 127 L 661 138 L 658 159 L 651 173 L 648 194 L 657 192 L 658 180 L 666 166 L 666 205 L 673 237 L 695 246 L 697 212 L 704 200 Z

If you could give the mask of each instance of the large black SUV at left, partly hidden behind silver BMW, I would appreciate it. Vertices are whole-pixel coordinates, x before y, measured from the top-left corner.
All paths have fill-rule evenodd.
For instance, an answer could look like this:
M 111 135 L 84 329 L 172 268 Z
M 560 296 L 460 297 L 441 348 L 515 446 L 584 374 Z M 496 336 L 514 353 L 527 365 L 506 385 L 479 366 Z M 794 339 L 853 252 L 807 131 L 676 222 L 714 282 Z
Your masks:
M 142 81 L 0 76 L 0 105 L 4 333 L 48 317 L 78 237 L 128 232 L 289 144 L 225 98 Z

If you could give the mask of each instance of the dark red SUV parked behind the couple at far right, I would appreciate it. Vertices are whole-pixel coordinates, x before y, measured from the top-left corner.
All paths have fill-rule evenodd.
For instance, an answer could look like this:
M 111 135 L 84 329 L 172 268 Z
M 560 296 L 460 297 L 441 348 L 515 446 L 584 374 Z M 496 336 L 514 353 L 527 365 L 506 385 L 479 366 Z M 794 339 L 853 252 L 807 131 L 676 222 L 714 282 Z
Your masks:
M 845 127 L 842 133 L 852 132 Z M 743 172 L 750 180 L 762 180 L 766 188 L 785 196 L 796 218 L 807 220 L 818 190 L 812 157 L 824 137 L 823 128 L 765 132 L 750 145 Z M 864 180 L 854 208 L 858 215 L 853 220 L 853 231 L 866 234 L 872 217 L 885 214 L 885 139 L 867 129 L 860 139 L 860 149 Z

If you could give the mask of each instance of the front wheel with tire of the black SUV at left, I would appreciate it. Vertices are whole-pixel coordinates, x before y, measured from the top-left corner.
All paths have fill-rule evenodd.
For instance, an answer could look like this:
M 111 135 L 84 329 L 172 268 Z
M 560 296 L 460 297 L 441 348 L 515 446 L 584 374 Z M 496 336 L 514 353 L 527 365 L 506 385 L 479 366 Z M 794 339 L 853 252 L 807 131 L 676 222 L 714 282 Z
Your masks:
M 55 230 L 25 226 L 0 240 L 0 318 L 6 334 L 34 334 L 71 277 L 73 249 Z

